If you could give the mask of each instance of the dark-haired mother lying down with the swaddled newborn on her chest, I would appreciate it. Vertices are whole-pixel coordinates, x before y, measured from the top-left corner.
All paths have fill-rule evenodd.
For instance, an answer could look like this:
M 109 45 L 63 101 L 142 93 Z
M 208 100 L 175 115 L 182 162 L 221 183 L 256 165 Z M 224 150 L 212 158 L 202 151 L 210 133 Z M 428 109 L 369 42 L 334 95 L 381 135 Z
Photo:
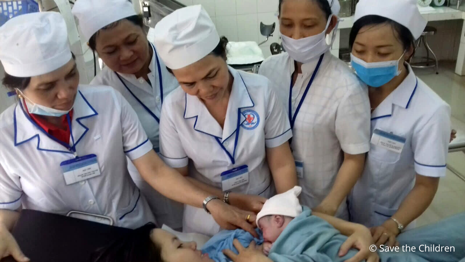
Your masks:
M 148 224 L 100 248 L 91 261 L 458 262 L 465 259 L 465 213 L 399 234 L 401 248 L 397 252 L 386 249 L 371 252 L 374 243 L 368 228 L 300 206 L 297 198 L 300 192 L 301 188 L 296 186 L 266 201 L 257 215 L 259 238 L 256 239 L 241 229 L 225 230 L 197 250 L 196 242 L 182 242 L 174 234 Z M 447 246 L 453 250 L 435 252 L 432 248 L 419 249 L 421 245 Z M 403 251 L 402 247 L 416 247 L 416 252 Z

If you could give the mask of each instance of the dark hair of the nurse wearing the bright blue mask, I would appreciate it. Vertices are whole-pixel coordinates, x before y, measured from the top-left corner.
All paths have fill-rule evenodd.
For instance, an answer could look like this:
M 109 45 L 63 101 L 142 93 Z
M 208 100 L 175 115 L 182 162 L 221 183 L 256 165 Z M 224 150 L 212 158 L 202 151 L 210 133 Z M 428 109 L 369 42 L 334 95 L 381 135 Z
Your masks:
M 355 42 L 355 38 L 357 37 L 357 34 L 359 34 L 361 28 L 369 25 L 376 26 L 380 24 L 388 24 L 392 26 L 394 33 L 396 33 L 394 35 L 402 43 L 405 50 L 408 50 L 411 47 L 415 47 L 415 38 L 413 37 L 412 32 L 410 32 L 408 28 L 399 24 L 396 21 L 379 15 L 364 16 L 353 24 L 352 30 L 350 31 L 349 35 L 349 47 L 352 49 L 353 43 Z

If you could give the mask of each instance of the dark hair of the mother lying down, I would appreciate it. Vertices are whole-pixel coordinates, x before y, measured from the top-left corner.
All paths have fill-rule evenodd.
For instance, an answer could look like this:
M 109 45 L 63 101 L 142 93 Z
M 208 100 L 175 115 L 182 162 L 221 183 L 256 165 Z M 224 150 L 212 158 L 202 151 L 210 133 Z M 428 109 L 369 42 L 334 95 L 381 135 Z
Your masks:
M 129 234 L 99 248 L 91 254 L 90 262 L 163 262 L 161 247 L 150 238 L 153 223 L 134 229 Z

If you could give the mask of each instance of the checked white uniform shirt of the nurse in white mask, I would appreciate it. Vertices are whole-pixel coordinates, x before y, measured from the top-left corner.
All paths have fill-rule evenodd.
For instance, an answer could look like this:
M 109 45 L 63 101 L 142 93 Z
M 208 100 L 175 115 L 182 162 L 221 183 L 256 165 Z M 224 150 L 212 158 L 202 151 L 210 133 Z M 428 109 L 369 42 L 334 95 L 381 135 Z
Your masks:
M 260 66 L 259 74 L 271 80 L 292 116 L 318 61 L 319 57 L 302 65 L 291 96 L 291 76 L 295 68 L 294 60 L 287 53 L 273 55 Z M 317 207 L 334 185 L 343 152 L 355 155 L 370 149 L 370 103 L 366 85 L 330 52 L 323 56 L 299 108 L 292 133 L 294 159 L 303 162 L 303 174 L 299 174 L 302 204 Z M 345 201 L 336 216 L 348 219 Z

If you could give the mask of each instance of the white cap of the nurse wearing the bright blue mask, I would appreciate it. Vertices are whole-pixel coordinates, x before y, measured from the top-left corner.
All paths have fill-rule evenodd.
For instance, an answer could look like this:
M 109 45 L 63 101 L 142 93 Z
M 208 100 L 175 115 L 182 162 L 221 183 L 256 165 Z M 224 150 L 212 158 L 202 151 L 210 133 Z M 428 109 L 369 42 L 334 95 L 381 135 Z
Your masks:
M 360 0 L 355 8 L 354 21 L 367 15 L 379 15 L 396 21 L 418 39 L 426 27 L 416 0 Z

